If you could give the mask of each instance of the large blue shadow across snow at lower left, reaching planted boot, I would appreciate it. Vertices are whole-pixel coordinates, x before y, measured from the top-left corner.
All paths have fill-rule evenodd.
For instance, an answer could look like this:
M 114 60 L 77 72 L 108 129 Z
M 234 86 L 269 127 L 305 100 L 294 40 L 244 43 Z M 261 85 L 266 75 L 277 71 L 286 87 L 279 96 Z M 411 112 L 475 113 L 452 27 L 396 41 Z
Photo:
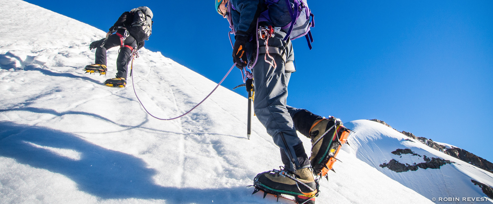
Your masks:
M 32 143 L 80 153 L 80 160 L 60 156 Z M 0 122 L 0 156 L 21 164 L 60 173 L 77 183 L 79 190 L 102 199 L 163 199 L 167 203 L 234 203 L 252 189 L 241 187 L 196 189 L 163 187 L 154 183 L 156 170 L 140 158 L 90 143 L 80 136 L 48 128 Z

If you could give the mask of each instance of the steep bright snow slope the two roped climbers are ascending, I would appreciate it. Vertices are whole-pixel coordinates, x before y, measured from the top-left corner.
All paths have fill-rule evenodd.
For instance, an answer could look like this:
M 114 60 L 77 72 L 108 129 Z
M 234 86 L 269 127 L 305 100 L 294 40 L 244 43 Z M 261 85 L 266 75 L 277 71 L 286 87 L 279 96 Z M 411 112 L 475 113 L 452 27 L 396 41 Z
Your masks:
M 108 51 L 107 76 L 81 70 L 94 61 L 89 43 L 105 32 L 21 0 L 0 0 L 0 10 L 16 14 L 0 18 L 1 204 L 275 202 L 246 188 L 281 161 L 255 118 L 246 139 L 244 97 L 220 87 L 189 115 L 156 120 L 132 80 L 102 85 L 115 73 L 117 48 Z M 159 117 L 185 112 L 216 85 L 159 52 L 140 53 L 135 87 Z M 317 204 L 432 203 L 346 145 L 339 159 Z

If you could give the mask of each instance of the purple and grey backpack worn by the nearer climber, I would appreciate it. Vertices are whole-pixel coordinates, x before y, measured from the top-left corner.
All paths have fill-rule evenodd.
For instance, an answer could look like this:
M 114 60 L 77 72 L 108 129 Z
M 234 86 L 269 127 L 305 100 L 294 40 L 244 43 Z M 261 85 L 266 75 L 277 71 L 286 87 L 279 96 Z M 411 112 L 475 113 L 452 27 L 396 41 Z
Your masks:
M 281 27 L 286 32 L 284 40 L 305 36 L 308 47 L 312 49 L 310 28 L 315 27 L 315 20 L 306 0 L 265 0 L 265 3 L 267 10 L 260 14 L 259 22 L 268 21 Z

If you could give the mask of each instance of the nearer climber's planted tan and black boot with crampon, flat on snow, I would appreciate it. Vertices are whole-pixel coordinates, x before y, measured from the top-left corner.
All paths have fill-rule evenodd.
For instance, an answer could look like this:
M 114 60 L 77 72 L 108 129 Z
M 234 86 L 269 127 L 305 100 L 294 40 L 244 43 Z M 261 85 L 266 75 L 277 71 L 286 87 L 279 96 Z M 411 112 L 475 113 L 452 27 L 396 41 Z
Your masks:
M 293 196 L 298 204 L 315 204 L 318 195 L 318 182 L 314 179 L 312 170 L 305 168 L 296 172 L 287 170 L 271 170 L 257 174 L 253 179 L 255 191 L 275 196 Z M 285 197 L 284 197 L 285 198 Z

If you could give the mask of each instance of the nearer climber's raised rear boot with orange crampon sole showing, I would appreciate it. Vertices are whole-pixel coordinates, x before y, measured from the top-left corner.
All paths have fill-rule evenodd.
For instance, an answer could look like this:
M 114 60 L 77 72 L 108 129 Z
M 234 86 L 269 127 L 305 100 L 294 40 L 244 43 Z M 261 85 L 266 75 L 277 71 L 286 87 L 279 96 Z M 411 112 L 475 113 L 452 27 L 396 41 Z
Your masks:
M 332 169 L 341 145 L 346 143 L 349 129 L 340 119 L 329 117 L 314 122 L 310 129 L 312 139 L 312 163 L 316 175 L 325 176 Z

